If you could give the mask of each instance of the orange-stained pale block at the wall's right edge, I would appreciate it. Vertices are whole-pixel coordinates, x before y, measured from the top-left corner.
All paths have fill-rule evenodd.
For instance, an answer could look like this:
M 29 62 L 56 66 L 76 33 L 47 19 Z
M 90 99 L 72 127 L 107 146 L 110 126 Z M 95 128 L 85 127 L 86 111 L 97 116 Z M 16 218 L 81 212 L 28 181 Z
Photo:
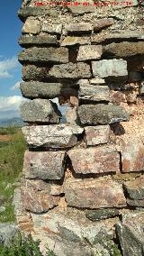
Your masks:
M 135 138 L 128 138 L 121 146 L 122 172 L 135 172 L 144 169 L 144 145 Z

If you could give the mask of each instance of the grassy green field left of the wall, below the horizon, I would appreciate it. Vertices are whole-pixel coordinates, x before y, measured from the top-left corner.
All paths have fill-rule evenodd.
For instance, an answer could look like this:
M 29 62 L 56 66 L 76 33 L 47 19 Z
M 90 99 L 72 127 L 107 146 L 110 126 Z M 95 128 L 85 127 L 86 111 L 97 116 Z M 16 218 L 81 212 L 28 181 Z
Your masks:
M 11 141 L 0 142 L 0 206 L 5 207 L 4 212 L 0 211 L 0 222 L 13 222 L 14 188 L 23 169 L 23 154 L 26 150 L 26 143 L 19 128 L 0 128 L 0 133 L 3 135 L 13 134 Z

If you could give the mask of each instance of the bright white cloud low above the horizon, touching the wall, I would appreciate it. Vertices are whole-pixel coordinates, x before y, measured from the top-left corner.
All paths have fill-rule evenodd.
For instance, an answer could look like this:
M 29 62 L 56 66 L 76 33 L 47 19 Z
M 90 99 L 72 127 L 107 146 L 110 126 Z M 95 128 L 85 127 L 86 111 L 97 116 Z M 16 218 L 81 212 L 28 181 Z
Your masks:
M 0 97 L 0 112 L 19 111 L 20 105 L 25 99 L 23 96 L 1 96 Z

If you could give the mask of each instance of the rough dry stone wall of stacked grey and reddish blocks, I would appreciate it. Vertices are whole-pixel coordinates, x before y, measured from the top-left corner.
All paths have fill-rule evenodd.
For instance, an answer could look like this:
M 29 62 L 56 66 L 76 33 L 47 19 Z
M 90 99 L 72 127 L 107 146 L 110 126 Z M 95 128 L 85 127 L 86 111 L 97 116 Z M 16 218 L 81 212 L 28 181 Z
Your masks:
M 142 256 L 143 4 L 34 3 L 19 10 L 29 150 L 17 223 L 43 255 Z

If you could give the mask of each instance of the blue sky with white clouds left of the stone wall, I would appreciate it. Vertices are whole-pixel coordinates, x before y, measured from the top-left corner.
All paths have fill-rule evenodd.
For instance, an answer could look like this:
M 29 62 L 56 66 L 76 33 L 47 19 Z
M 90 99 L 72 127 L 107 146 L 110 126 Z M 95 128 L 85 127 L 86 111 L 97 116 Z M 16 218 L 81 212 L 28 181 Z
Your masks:
M 19 115 L 23 97 L 19 88 L 22 66 L 17 55 L 23 23 L 17 16 L 22 0 L 4 0 L 0 3 L 0 119 Z

